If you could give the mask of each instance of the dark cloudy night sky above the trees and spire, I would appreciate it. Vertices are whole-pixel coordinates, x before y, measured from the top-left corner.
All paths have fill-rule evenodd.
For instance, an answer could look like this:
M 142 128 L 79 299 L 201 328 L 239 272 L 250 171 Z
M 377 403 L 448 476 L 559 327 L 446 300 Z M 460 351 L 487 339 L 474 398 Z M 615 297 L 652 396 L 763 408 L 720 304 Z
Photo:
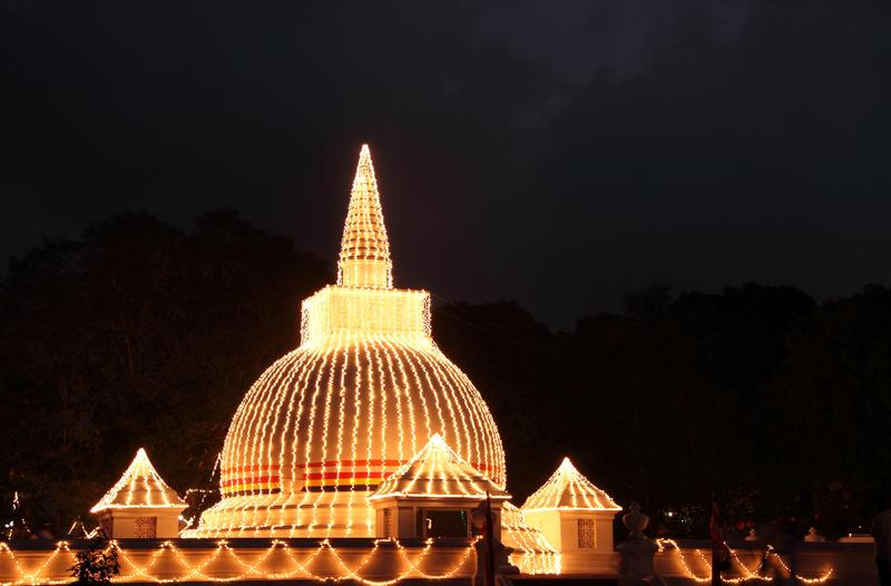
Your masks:
M 891 282 L 888 1 L 2 7 L 2 257 L 231 207 L 333 264 L 368 141 L 440 300 Z

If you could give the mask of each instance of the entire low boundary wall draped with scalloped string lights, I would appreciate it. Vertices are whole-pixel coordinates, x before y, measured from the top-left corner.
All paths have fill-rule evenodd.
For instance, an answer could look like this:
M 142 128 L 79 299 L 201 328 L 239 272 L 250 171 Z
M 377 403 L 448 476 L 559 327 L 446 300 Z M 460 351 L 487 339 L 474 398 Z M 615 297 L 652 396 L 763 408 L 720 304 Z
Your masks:
M 693 585 L 707 580 L 711 543 L 683 540 L 676 544 L 677 548 L 664 547 L 656 554 L 656 574 L 667 584 Z M 0 544 L 0 584 L 68 584 L 75 553 L 86 545 L 86 541 L 57 545 L 49 540 Z M 124 539 L 119 547 L 119 582 L 133 583 L 469 579 L 477 573 L 477 555 L 470 539 L 437 539 L 431 545 L 420 539 L 366 538 L 331 539 L 330 543 L 319 539 Z M 724 576 L 748 577 L 743 582 L 763 584 L 770 578 L 785 578 L 789 569 L 794 568 L 809 583 L 879 584 L 871 544 L 796 544 L 795 548 L 794 559 L 790 553 L 783 553 L 768 556 L 762 565 L 764 546 L 734 545 L 733 567 Z M 615 576 L 615 569 L 605 573 L 604 567 L 617 568 L 617 560 L 618 554 L 606 554 L 591 560 L 594 564 L 589 568 L 584 564 L 570 564 L 564 566 L 561 574 Z M 541 579 L 547 577 L 541 576 Z M 535 577 L 528 576 L 523 582 L 527 579 Z

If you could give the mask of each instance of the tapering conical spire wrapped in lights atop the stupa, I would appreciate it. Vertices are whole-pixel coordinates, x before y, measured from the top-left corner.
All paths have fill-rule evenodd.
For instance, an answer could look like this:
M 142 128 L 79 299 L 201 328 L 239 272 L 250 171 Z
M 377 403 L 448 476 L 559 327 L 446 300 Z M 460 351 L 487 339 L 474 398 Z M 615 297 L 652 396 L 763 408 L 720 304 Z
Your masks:
M 350 194 L 337 262 L 337 284 L 373 289 L 393 286 L 390 241 L 383 224 L 381 196 L 368 145 L 362 145 L 359 154 L 359 166 Z

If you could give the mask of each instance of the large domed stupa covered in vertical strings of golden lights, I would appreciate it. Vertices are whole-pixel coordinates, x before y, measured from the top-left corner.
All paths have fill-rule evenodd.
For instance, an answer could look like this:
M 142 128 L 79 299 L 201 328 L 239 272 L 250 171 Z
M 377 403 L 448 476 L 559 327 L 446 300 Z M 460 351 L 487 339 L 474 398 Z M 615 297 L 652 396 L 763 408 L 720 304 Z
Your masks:
M 393 289 L 365 145 L 337 284 L 303 301 L 300 348 L 260 377 L 232 420 L 223 499 L 184 535 L 374 536 L 368 497 L 437 433 L 505 486 L 492 416 L 431 338 L 430 294 Z

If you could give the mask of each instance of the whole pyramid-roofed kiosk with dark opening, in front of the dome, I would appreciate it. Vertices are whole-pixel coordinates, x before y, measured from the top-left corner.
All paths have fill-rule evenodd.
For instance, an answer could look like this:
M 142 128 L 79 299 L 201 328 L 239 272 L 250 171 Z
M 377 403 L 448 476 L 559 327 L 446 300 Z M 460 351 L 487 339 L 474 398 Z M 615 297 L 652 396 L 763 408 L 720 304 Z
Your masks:
M 369 497 L 383 537 L 470 537 L 472 510 L 490 499 L 500 536 L 503 488 L 456 453 L 439 433 Z

